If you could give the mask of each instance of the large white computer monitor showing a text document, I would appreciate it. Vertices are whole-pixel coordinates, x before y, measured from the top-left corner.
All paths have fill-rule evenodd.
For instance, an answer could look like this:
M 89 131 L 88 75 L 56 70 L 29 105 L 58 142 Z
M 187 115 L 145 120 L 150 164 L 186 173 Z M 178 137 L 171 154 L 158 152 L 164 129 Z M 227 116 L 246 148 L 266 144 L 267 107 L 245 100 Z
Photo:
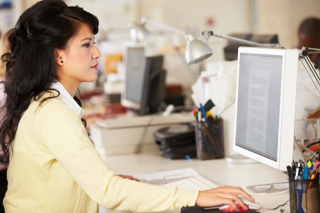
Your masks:
M 298 60 L 298 50 L 238 50 L 234 150 L 281 171 L 293 160 Z

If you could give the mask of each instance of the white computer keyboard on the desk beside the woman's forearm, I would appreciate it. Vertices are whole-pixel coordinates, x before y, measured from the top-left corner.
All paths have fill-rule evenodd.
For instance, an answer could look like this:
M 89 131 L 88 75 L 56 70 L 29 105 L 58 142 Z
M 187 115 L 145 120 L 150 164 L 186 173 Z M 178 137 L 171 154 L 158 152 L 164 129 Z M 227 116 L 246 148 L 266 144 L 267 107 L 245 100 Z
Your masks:
M 219 187 L 220 185 L 218 183 L 214 182 L 213 180 L 211 180 L 207 177 L 204 177 L 203 175 L 197 175 L 194 177 L 166 183 L 162 186 L 165 186 L 165 187 L 177 186 L 178 188 L 183 188 L 183 189 L 187 189 L 187 190 L 204 191 L 204 190 L 210 190 L 210 188 Z

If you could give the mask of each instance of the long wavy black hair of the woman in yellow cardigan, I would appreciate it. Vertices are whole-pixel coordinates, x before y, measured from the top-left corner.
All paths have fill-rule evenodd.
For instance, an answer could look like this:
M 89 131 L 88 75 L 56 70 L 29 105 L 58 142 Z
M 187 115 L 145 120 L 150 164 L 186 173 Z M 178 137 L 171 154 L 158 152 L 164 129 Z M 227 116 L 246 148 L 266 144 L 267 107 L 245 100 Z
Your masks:
M 15 28 L 7 33 L 10 52 L 2 55 L 6 63 L 5 117 L 0 128 L 0 142 L 6 163 L 18 123 L 31 101 L 41 98 L 57 81 L 54 49 L 66 49 L 81 23 L 98 33 L 96 16 L 82 8 L 68 7 L 62 0 L 44 0 L 27 9 Z M 75 97 L 79 104 L 79 100 Z

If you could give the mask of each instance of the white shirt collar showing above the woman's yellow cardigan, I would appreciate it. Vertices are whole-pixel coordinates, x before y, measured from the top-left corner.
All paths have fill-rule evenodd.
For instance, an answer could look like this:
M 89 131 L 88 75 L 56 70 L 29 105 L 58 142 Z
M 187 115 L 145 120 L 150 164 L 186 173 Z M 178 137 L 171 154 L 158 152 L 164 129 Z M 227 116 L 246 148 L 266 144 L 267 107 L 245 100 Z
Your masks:
M 70 93 L 64 88 L 64 86 L 60 82 L 52 82 L 51 88 L 59 91 L 60 97 L 62 98 L 64 103 L 73 111 L 75 111 L 79 115 L 79 117 L 82 117 L 83 109 L 77 104 L 73 97 L 70 96 Z

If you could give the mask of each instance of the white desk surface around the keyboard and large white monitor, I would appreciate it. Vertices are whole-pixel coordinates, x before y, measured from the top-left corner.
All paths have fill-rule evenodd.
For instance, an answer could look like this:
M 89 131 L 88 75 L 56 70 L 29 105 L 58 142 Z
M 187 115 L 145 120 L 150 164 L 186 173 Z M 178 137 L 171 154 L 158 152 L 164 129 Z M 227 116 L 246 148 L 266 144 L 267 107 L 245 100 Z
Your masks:
M 286 182 L 287 176 L 281 171 L 268 167 L 261 163 L 255 164 L 231 164 L 225 159 L 203 160 L 175 159 L 162 157 L 159 152 L 104 156 L 110 169 L 116 174 L 133 175 L 142 173 L 163 172 L 184 168 L 193 168 L 198 173 L 211 178 L 221 185 L 246 186 L 254 184 L 266 184 Z M 289 200 L 289 193 L 280 195 L 253 195 L 261 207 L 275 208 Z M 280 212 L 280 209 L 290 212 L 290 204 L 277 210 L 261 209 L 261 213 Z M 106 212 L 102 209 L 100 212 Z M 171 212 L 171 211 L 170 211 Z M 179 211 L 174 211 L 179 212 Z

